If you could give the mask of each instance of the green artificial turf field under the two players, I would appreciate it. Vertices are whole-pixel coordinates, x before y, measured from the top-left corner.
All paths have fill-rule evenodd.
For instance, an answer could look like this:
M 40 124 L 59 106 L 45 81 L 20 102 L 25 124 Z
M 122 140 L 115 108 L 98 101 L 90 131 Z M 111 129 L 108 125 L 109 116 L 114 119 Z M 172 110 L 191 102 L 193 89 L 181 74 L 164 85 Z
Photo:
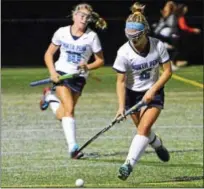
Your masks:
M 162 137 L 171 159 L 161 162 L 148 147 L 126 181 L 117 178 L 135 135 L 130 119 L 115 125 L 72 160 L 64 133 L 50 109 L 40 111 L 41 87 L 33 80 L 48 76 L 45 68 L 2 69 L 1 187 L 73 188 L 202 188 L 203 187 L 203 66 L 176 71 L 192 83 L 172 78 L 165 87 L 165 109 L 153 129 Z M 84 144 L 106 127 L 117 111 L 116 74 L 111 67 L 93 71 L 76 106 L 77 139 Z

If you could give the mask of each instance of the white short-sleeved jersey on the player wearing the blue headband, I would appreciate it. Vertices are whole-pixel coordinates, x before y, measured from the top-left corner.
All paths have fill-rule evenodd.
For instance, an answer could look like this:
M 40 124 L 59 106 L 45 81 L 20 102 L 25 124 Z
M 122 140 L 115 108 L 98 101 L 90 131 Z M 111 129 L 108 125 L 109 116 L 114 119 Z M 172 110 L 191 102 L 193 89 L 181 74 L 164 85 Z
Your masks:
M 143 57 L 128 41 L 118 50 L 113 68 L 126 73 L 126 87 L 146 91 L 159 79 L 159 65 L 169 60 L 169 54 L 160 40 L 149 37 L 149 53 Z

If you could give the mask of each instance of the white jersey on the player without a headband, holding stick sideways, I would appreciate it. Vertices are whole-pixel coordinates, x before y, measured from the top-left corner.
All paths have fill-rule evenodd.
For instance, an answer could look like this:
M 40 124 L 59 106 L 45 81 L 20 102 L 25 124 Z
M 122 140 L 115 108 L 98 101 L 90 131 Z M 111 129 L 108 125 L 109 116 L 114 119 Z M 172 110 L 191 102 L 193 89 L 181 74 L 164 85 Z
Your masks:
M 55 62 L 55 69 L 65 73 L 76 73 L 81 61 L 88 62 L 93 53 L 102 50 L 98 35 L 87 28 L 86 32 L 74 39 L 71 26 L 59 28 L 52 38 L 52 43 L 60 46 L 59 59 Z M 87 77 L 87 75 L 83 75 Z

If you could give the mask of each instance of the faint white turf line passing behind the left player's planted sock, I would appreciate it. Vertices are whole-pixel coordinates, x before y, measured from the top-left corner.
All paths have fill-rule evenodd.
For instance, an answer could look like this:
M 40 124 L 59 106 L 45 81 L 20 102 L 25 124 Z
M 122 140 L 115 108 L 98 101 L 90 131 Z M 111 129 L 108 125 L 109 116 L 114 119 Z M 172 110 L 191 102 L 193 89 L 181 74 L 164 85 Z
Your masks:
M 190 125 L 188 125 L 188 126 L 184 126 L 184 125 L 165 125 L 165 126 L 156 126 L 155 125 L 155 127 L 154 128 L 159 128 L 159 129 L 181 129 L 181 128 L 185 128 L 185 129 L 187 129 L 187 128 L 190 128 L 190 129 L 201 129 L 201 128 L 204 128 L 204 125 L 194 125 L 194 126 L 190 126 Z M 90 131 L 90 130 L 98 130 L 98 131 L 100 131 L 100 129 L 102 130 L 103 128 L 99 128 L 99 127 L 86 127 L 86 128 L 78 128 L 78 129 L 76 129 L 76 130 L 78 130 L 78 131 L 83 131 L 83 130 L 87 130 L 87 131 Z M 125 130 L 127 130 L 127 127 L 118 127 L 117 128 L 117 130 L 123 130 L 123 129 L 125 129 Z M 131 128 L 128 128 L 128 129 L 131 129 Z M 12 133 L 18 133 L 18 132 L 41 132 L 41 131 L 49 131 L 49 132 L 51 132 L 51 131 L 62 131 L 62 129 L 50 129 L 50 128 L 44 128 L 44 129 L 18 129 L 18 130 L 16 130 L 16 129 L 2 129 L 1 130 L 1 133 L 3 134 L 3 133 L 5 133 L 5 132 L 8 132 L 8 133 L 10 133 L 10 132 L 12 132 Z

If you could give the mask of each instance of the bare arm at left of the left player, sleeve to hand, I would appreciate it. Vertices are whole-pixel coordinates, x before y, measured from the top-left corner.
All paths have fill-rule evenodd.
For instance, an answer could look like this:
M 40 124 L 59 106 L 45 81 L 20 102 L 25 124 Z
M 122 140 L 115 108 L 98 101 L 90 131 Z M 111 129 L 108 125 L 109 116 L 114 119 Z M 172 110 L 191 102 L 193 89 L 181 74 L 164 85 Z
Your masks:
M 50 78 L 55 83 L 59 82 L 59 74 L 56 72 L 54 67 L 54 54 L 57 52 L 58 49 L 59 46 L 51 43 L 44 55 L 45 64 L 49 70 Z

